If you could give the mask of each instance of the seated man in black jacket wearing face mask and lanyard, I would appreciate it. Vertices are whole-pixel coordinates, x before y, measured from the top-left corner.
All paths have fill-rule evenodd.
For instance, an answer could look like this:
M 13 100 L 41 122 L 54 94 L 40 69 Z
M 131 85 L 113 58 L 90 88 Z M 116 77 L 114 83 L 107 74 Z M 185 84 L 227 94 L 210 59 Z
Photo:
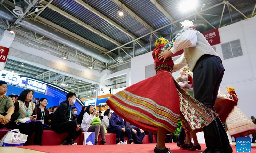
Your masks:
M 76 102 L 76 94 L 69 92 L 66 95 L 67 100 L 60 103 L 59 107 L 55 111 L 51 127 L 52 131 L 58 133 L 68 132 L 68 137 L 60 145 L 77 145 L 75 140 L 83 132 L 81 126 L 77 124 L 77 121 L 72 120 L 71 117 L 71 105 Z

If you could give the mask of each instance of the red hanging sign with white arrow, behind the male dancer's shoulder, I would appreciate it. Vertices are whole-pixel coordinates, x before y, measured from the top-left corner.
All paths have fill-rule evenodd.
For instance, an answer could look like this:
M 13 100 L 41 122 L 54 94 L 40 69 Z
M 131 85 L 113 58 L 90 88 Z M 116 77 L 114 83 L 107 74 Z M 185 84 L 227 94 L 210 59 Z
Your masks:
M 211 46 L 220 44 L 220 34 L 218 29 L 213 29 L 202 34 Z

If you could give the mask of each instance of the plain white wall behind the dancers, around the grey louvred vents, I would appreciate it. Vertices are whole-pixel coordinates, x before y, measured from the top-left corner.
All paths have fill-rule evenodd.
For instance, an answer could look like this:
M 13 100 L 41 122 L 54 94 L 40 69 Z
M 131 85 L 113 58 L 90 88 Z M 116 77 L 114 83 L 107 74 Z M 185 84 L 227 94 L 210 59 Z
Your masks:
M 220 88 L 232 86 L 239 98 L 238 106 L 247 116 L 256 116 L 256 17 L 219 29 L 221 43 L 240 39 L 243 56 L 223 60 L 225 74 Z M 215 45 L 223 59 L 221 44 Z M 131 84 L 145 79 L 145 66 L 153 64 L 152 52 L 131 60 Z M 179 72 L 172 74 L 179 76 Z

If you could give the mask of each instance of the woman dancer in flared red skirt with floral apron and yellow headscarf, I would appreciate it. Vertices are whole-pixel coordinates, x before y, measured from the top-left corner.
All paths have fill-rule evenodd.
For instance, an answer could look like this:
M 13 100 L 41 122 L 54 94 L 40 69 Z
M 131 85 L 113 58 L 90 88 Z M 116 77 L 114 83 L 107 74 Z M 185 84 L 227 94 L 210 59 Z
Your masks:
M 218 116 L 196 99 L 189 96 L 172 77 L 171 57 L 158 60 L 161 49 L 170 49 L 180 31 L 169 43 L 159 38 L 153 50 L 156 75 L 138 82 L 107 100 L 108 106 L 119 116 L 136 127 L 157 132 L 155 153 L 171 153 L 165 147 L 167 131 L 174 132 L 179 115 L 186 131 L 203 128 Z

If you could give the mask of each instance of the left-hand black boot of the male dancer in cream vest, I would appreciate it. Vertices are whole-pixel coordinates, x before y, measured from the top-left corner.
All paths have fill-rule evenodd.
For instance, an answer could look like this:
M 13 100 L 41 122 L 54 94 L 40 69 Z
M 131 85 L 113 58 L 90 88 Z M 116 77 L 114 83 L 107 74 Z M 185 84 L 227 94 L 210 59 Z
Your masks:
M 212 121 L 207 127 L 204 127 L 204 139 L 207 148 L 201 153 L 223 153 L 216 120 Z

